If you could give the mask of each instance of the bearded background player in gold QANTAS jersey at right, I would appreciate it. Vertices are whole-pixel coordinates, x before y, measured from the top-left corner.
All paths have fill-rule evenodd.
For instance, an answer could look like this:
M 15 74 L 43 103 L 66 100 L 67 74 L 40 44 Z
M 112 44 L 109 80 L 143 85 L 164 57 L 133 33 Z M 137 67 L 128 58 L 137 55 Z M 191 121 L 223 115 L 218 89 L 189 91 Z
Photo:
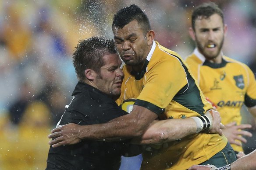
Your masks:
M 241 135 L 252 136 L 241 124 L 240 110 L 243 104 L 256 118 L 256 81 L 251 69 L 245 64 L 224 56 L 222 46 L 227 25 L 222 10 L 214 3 L 203 3 L 192 13 L 189 28 L 196 49 L 186 58 L 203 94 L 217 106 L 224 135 L 235 151 L 242 151 Z M 234 47 L 235 48 L 235 47 Z

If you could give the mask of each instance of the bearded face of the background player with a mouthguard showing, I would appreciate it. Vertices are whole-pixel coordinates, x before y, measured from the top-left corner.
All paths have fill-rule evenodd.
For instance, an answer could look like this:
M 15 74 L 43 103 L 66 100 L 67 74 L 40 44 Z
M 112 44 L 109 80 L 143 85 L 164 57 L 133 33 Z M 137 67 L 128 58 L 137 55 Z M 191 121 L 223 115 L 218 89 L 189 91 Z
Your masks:
M 199 52 L 206 59 L 221 57 L 220 51 L 224 42 L 226 26 L 218 14 L 209 18 L 200 18 L 195 21 L 195 41 Z

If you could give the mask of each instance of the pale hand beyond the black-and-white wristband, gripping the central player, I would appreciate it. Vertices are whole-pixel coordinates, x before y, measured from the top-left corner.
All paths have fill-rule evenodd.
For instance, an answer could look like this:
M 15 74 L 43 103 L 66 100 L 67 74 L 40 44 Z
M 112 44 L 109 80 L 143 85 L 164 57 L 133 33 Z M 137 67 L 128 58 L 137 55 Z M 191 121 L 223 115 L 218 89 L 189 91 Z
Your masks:
M 210 110 L 206 114 L 209 114 L 213 118 L 213 127 L 210 129 L 210 133 L 216 133 L 219 134 L 220 136 L 223 135 L 222 129 L 224 129 L 224 125 L 220 123 L 221 118 L 220 118 L 220 113 L 215 110 Z

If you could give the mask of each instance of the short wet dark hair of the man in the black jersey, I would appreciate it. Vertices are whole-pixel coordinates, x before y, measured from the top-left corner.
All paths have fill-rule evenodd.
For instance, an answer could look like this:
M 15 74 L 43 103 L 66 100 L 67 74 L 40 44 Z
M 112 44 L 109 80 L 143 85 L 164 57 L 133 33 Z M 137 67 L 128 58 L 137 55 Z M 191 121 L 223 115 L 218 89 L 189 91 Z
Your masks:
M 78 80 L 81 82 L 86 80 L 85 69 L 99 73 L 100 68 L 105 64 L 103 56 L 114 53 L 117 53 L 117 49 L 113 39 L 91 37 L 79 41 L 72 56 Z

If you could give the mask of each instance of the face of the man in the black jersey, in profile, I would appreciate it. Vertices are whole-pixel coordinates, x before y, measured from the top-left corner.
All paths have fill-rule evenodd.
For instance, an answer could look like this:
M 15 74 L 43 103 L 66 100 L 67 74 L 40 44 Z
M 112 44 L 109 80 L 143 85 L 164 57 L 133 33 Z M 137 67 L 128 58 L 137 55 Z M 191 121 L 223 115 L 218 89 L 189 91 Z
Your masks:
M 103 60 L 105 65 L 100 68 L 95 84 L 99 90 L 116 100 L 121 94 L 121 84 L 124 78 L 124 73 L 120 68 L 122 61 L 118 54 L 105 55 Z

